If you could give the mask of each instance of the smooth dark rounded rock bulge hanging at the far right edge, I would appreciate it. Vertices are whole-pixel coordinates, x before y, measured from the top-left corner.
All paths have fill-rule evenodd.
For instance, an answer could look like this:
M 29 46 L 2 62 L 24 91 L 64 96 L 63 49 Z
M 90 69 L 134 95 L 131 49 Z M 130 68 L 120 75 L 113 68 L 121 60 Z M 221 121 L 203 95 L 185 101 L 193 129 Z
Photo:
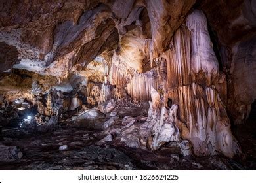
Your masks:
M 244 124 L 256 99 L 256 37 L 238 42 L 232 53 L 228 110 L 234 124 Z

